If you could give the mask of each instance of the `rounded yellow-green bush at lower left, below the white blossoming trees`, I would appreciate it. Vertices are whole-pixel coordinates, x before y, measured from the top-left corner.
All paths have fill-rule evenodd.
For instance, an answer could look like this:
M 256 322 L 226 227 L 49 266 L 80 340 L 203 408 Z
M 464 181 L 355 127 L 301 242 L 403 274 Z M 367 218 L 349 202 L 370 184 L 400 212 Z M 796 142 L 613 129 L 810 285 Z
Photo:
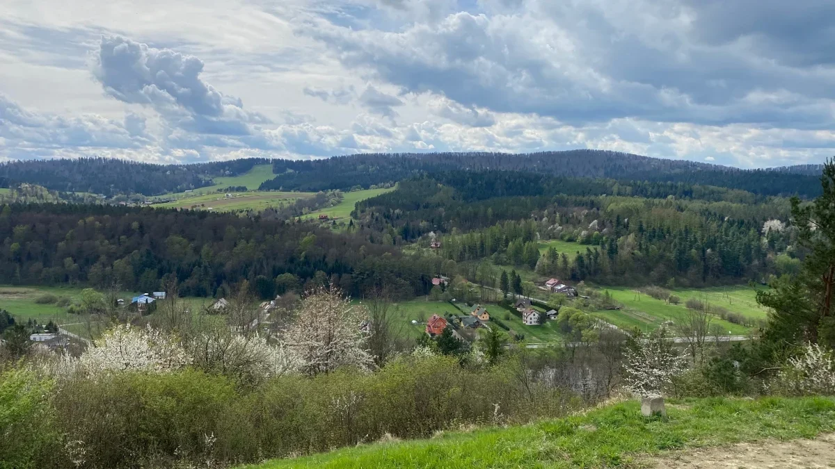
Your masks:
M 81 441 L 87 466 L 170 466 L 216 460 L 210 436 L 235 400 L 233 383 L 200 371 L 122 372 L 73 380 L 58 392 L 62 430 Z M 106 416 L 106 418 L 104 418 Z

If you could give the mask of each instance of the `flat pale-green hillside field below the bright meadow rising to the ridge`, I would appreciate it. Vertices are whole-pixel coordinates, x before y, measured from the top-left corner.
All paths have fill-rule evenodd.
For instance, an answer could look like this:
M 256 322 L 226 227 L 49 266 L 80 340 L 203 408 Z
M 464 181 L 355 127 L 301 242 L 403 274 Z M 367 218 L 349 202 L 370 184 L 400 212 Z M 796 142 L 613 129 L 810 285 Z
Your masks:
M 227 199 L 225 194 L 205 194 L 195 197 L 184 197 L 174 202 L 155 204 L 154 207 L 164 209 L 215 209 L 219 212 L 234 212 L 237 210 L 261 211 L 267 208 L 279 208 L 291 204 L 296 199 L 311 197 L 309 192 L 236 192 Z

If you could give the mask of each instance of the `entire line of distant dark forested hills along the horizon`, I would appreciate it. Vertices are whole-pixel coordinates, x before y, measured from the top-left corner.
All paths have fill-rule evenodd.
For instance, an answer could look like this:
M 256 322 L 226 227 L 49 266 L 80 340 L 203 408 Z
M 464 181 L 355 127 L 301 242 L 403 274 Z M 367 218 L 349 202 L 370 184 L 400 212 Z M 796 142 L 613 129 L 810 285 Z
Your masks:
M 523 171 L 571 178 L 605 178 L 712 185 L 759 195 L 814 197 L 822 166 L 737 169 L 681 159 L 578 149 L 533 154 L 434 153 L 352 154 L 330 159 L 235 159 L 203 164 L 148 164 L 121 159 L 25 160 L 0 164 L 0 187 L 38 184 L 62 192 L 159 195 L 198 189 L 213 178 L 244 174 L 256 164 L 272 164 L 276 178 L 264 190 L 351 189 L 454 170 Z

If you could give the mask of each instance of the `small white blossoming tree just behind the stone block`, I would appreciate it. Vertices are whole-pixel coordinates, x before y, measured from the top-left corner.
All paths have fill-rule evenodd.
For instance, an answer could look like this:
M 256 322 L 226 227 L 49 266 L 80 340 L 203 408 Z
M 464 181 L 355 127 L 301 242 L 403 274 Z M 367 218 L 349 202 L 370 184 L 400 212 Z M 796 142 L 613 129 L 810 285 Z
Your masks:
M 624 357 L 624 387 L 639 396 L 663 394 L 686 369 L 686 354 L 676 350 L 663 327 L 644 340 L 631 340 Z

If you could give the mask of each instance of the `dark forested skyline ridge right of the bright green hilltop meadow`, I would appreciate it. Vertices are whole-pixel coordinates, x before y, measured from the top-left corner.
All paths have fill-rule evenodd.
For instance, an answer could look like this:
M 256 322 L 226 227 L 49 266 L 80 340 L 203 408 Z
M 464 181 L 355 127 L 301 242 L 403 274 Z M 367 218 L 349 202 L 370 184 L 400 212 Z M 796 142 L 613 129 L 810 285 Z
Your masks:
M 273 172 L 278 175 L 261 184 L 261 189 L 344 190 L 357 185 L 368 187 L 454 169 L 527 171 L 569 178 L 711 185 L 760 195 L 814 197 L 820 193 L 820 172 L 814 173 L 811 166 L 797 170 L 737 169 L 587 149 L 535 154 L 353 154 L 314 161 L 274 160 Z

